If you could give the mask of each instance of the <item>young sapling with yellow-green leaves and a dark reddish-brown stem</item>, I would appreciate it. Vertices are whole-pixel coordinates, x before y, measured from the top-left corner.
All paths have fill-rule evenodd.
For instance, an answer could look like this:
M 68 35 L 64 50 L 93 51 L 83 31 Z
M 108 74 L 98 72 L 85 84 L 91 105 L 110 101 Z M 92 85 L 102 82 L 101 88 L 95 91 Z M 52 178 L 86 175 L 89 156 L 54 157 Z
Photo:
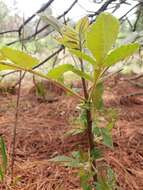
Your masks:
M 51 22 L 51 21 L 50 21 Z M 58 22 L 51 22 L 57 29 Z M 75 28 L 63 26 L 57 29 L 60 33 L 58 42 L 78 58 L 78 67 L 73 64 L 63 64 L 50 70 L 47 75 L 33 70 L 38 60 L 24 52 L 10 48 L 1 49 L 1 69 L 19 69 L 52 80 L 57 86 L 81 100 L 81 121 L 86 134 L 88 149 L 73 152 L 71 156 L 58 156 L 51 159 L 69 167 L 79 169 L 79 177 L 83 190 L 114 190 L 116 178 L 111 168 L 103 163 L 102 149 L 98 144 L 113 148 L 112 128 L 116 114 L 106 109 L 103 104 L 103 82 L 106 71 L 119 61 L 122 61 L 137 51 L 139 45 L 131 43 L 115 48 L 119 33 L 119 21 L 108 13 L 100 14 L 96 22 L 90 25 L 87 17 L 81 19 Z M 86 68 L 89 71 L 86 71 Z M 71 71 L 81 78 L 83 95 L 68 88 L 61 82 L 65 72 Z M 110 75 L 109 75 L 110 76 Z M 87 86 L 87 83 L 90 86 Z

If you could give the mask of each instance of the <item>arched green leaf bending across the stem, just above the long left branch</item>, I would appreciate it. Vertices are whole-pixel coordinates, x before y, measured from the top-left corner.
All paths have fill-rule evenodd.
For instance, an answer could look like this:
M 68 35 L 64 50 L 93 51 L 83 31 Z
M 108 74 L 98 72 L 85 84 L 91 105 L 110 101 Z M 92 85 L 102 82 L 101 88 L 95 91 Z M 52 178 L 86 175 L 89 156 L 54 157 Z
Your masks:
M 48 72 L 47 76 L 52 79 L 58 79 L 63 75 L 65 72 L 72 71 L 73 73 L 77 74 L 80 77 L 85 78 L 86 80 L 92 81 L 92 78 L 90 75 L 88 75 L 85 72 L 82 72 L 78 69 L 76 69 L 73 65 L 71 64 L 63 64 L 58 67 L 55 67 L 51 71 Z

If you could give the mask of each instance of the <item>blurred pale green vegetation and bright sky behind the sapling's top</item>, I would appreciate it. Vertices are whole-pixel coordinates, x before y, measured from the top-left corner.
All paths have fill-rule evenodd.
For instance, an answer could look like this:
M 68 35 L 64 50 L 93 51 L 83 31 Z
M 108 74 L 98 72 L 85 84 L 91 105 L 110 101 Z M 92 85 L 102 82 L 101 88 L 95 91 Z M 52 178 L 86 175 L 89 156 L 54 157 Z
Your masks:
M 8 45 L 20 50 L 23 45 L 24 51 L 41 61 L 39 68 L 45 72 L 61 62 L 72 63 L 76 60 L 57 44 L 54 40 L 56 31 L 44 19 L 41 19 L 40 14 L 55 16 L 60 22 L 74 26 L 81 17 L 88 16 L 92 22 L 103 11 L 110 12 L 120 19 L 121 31 L 117 46 L 135 41 L 141 44 L 137 55 L 119 63 L 113 69 L 119 69 L 124 64 L 124 72 L 143 72 L 142 0 L 29 0 L 29 2 L 25 1 L 29 14 L 27 14 L 28 10 L 25 12 L 25 9 L 22 12 L 19 2 L 19 0 L 0 0 L 0 46 Z M 29 3 L 32 2 L 31 6 Z M 39 5 L 37 10 L 37 7 L 34 9 L 36 2 Z M 61 6 L 59 6 L 60 2 Z M 64 10 L 63 7 L 65 7 Z M 35 12 L 32 13 L 31 10 Z

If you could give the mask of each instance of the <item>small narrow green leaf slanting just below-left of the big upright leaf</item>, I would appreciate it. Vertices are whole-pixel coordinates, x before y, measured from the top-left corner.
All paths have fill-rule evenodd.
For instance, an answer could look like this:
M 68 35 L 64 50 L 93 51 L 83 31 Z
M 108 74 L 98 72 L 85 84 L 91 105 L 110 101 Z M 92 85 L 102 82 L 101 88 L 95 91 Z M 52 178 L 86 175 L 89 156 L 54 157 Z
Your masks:
M 80 50 L 70 49 L 69 51 L 72 54 L 76 55 L 78 58 L 84 59 L 85 61 L 87 61 L 88 63 L 91 63 L 94 66 L 96 65 L 96 61 L 94 60 L 94 58 L 92 58 L 89 55 L 81 52 Z

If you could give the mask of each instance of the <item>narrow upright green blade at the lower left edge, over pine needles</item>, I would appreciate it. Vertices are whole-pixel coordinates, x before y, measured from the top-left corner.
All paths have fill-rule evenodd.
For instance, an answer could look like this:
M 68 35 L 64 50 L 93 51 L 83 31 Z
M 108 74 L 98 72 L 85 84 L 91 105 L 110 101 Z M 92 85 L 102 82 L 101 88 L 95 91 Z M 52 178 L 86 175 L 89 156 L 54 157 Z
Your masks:
M 0 137 L 0 150 L 2 154 L 2 169 L 5 173 L 7 169 L 7 154 L 6 154 L 5 142 L 2 137 Z

